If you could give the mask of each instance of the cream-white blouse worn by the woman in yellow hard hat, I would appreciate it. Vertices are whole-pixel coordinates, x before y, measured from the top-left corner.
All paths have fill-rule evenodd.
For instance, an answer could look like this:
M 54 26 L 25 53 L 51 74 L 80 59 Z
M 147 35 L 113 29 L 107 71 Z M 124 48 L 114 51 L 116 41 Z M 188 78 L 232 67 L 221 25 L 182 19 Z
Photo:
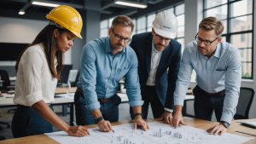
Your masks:
M 49 105 L 55 101 L 56 84 L 57 78 L 51 76 L 43 44 L 26 49 L 20 58 L 17 72 L 15 104 L 32 107 L 34 103 L 43 100 Z

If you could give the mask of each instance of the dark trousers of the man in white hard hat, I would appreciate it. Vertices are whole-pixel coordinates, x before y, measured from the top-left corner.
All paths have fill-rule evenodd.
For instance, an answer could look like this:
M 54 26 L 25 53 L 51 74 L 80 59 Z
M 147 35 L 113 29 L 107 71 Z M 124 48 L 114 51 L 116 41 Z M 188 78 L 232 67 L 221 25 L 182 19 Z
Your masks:
M 165 112 L 163 105 L 156 93 L 155 87 L 154 86 L 148 86 L 146 85 L 145 89 L 143 90 L 143 107 L 142 107 L 142 112 L 143 112 L 143 119 L 148 118 L 148 106 L 149 103 L 152 108 L 153 116 L 154 118 L 160 118 L 162 114 Z M 134 112 L 132 107 L 130 107 L 130 114 L 131 114 L 131 119 L 134 119 Z

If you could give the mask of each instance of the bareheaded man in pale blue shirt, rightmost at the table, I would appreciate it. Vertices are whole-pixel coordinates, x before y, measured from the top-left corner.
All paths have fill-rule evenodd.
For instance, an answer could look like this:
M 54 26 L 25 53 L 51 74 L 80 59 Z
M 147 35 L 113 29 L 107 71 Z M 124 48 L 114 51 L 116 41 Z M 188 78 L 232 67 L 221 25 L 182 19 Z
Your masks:
M 195 118 L 212 120 L 214 110 L 218 125 L 208 129 L 212 135 L 223 135 L 236 114 L 241 85 L 241 55 L 239 50 L 221 41 L 224 25 L 215 17 L 201 20 L 195 41 L 183 51 L 177 87 L 174 92 L 174 116 L 177 128 L 183 123 L 182 108 L 192 70 L 196 72 Z

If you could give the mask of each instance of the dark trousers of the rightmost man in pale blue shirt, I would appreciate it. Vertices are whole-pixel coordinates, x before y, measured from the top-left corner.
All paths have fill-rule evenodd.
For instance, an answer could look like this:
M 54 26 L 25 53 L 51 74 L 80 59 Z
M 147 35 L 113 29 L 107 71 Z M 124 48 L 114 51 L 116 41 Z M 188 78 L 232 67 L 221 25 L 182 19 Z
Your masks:
M 220 95 L 207 95 L 196 85 L 195 89 L 193 89 L 193 94 L 195 95 L 195 118 L 211 121 L 212 112 L 214 110 L 217 121 L 219 122 L 223 111 L 225 93 Z

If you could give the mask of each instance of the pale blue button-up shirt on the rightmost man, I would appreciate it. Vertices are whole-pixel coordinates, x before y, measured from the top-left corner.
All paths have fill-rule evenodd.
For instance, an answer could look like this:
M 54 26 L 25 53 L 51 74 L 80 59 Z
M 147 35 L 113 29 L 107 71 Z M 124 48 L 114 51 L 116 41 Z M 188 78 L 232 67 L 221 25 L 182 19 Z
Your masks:
M 174 106 L 183 106 L 183 100 L 190 84 L 192 70 L 195 69 L 195 81 L 208 93 L 217 93 L 225 89 L 224 107 L 221 121 L 230 123 L 236 114 L 241 86 L 241 55 L 239 50 L 221 41 L 211 58 L 200 55 L 195 41 L 190 42 L 183 51 L 180 70 L 177 75 L 174 92 Z

